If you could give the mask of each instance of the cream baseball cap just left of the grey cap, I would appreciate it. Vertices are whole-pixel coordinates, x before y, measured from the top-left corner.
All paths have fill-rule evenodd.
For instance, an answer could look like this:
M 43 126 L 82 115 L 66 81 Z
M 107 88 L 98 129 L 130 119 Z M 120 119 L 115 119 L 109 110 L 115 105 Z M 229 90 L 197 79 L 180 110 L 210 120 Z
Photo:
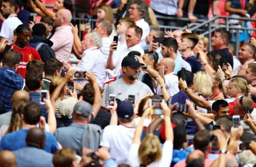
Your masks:
M 74 106 L 76 105 L 76 98 L 68 97 L 63 99 L 59 103 L 58 112 L 61 116 L 68 116 L 73 112 Z

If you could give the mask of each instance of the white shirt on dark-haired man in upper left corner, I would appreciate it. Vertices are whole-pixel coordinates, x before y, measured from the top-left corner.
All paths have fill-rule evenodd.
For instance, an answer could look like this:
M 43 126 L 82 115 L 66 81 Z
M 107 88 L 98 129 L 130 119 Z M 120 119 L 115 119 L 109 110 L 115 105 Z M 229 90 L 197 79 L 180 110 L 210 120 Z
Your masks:
M 18 19 L 17 15 L 9 15 L 9 17 L 4 20 L 2 24 L 2 28 L 0 31 L 0 36 L 7 38 L 9 40 L 9 43 L 12 43 L 11 37 L 13 36 L 13 30 L 17 28 L 17 26 L 20 26 L 22 24 L 22 21 Z

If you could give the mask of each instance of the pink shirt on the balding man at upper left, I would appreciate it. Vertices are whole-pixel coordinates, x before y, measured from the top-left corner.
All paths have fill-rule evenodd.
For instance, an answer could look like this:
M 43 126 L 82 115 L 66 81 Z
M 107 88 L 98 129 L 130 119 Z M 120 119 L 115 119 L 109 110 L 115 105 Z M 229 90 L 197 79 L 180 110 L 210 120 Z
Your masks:
M 52 49 L 55 52 L 56 59 L 66 64 L 74 42 L 72 27 L 61 26 L 56 28 L 50 40 L 53 42 Z

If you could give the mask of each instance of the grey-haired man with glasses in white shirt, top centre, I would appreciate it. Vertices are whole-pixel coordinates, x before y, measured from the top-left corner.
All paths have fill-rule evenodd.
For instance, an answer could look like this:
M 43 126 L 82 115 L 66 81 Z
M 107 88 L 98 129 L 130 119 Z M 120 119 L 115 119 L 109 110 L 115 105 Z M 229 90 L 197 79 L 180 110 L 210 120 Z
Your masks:
M 145 15 L 148 15 L 147 3 L 144 0 L 132 0 L 128 11 L 130 19 L 134 20 L 136 25 L 142 29 L 141 46 L 147 45 L 145 39 L 150 33 L 150 26 L 144 20 Z

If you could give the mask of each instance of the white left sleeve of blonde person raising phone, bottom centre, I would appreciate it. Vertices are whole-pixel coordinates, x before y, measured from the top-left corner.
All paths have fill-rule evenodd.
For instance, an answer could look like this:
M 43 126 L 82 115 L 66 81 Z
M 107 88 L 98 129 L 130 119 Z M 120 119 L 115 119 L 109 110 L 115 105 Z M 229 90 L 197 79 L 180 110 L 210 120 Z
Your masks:
M 132 146 L 130 147 L 129 155 L 128 155 L 128 164 L 131 167 L 139 167 L 139 145 L 133 143 Z

